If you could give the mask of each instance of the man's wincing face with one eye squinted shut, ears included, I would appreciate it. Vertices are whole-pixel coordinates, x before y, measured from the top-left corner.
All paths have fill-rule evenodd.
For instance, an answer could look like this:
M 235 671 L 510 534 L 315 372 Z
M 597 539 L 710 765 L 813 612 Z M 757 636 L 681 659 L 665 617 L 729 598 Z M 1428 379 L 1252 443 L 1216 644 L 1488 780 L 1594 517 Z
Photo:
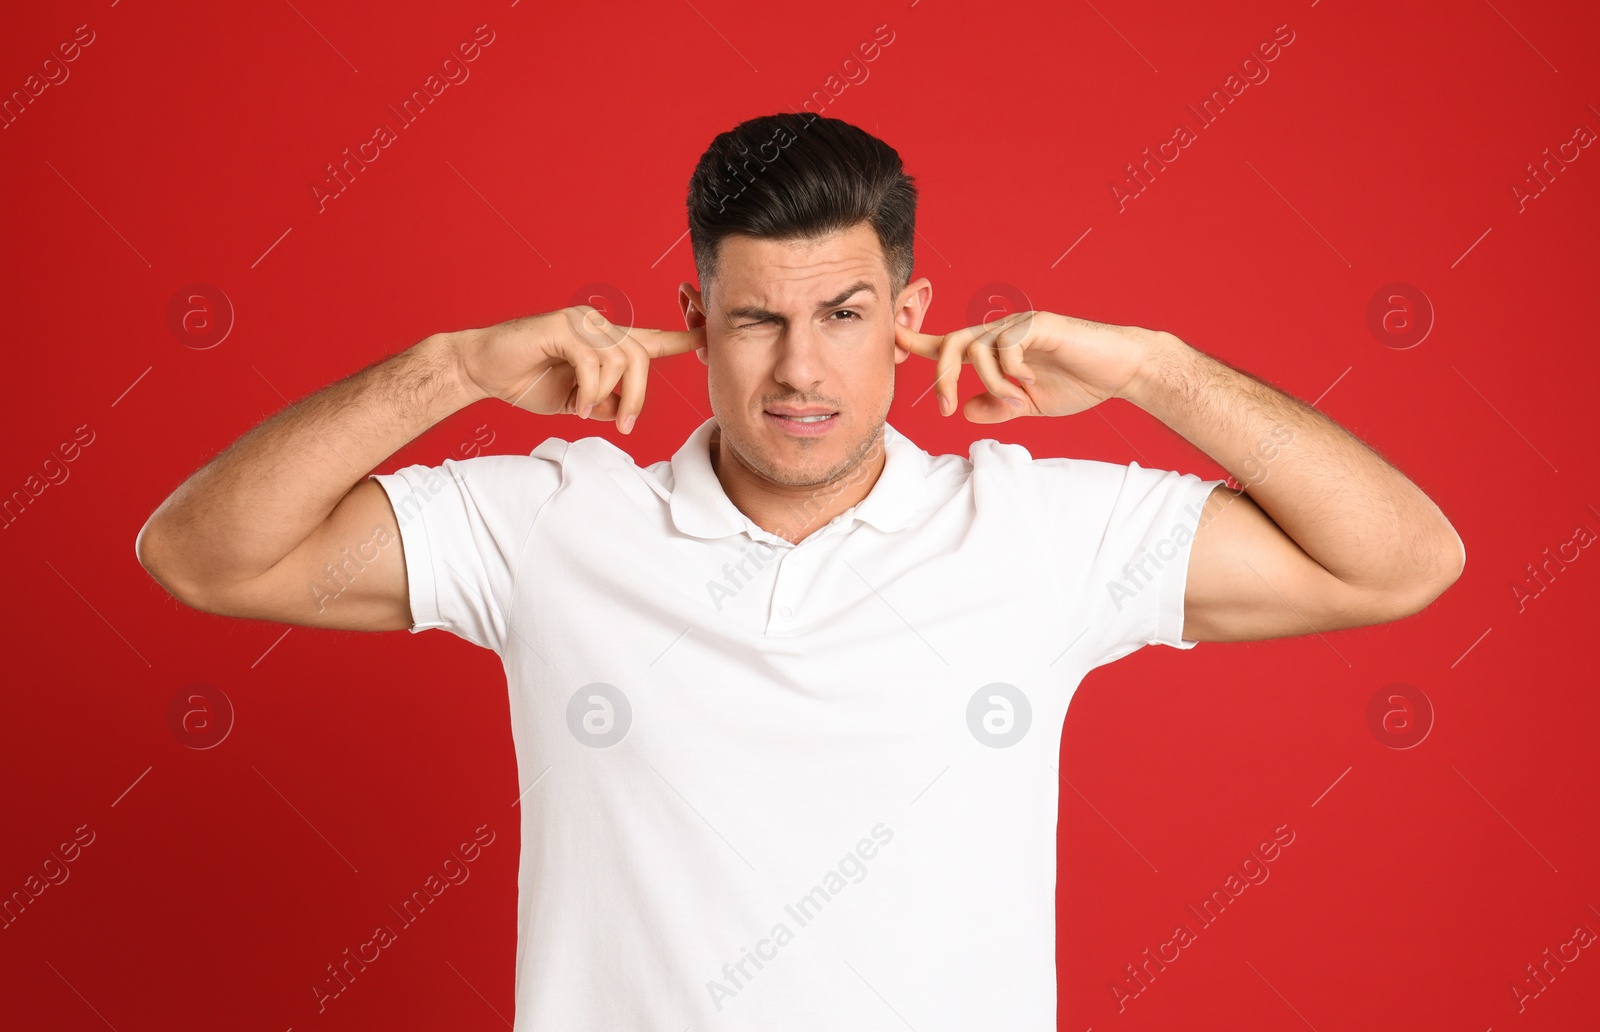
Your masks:
M 851 475 L 874 453 L 894 366 L 909 357 L 894 323 L 920 330 L 933 285 L 917 280 L 891 298 L 869 222 L 805 240 L 731 235 L 718 258 L 709 307 L 688 283 L 680 302 L 691 328 L 706 325 L 699 357 L 725 454 L 768 486 Z

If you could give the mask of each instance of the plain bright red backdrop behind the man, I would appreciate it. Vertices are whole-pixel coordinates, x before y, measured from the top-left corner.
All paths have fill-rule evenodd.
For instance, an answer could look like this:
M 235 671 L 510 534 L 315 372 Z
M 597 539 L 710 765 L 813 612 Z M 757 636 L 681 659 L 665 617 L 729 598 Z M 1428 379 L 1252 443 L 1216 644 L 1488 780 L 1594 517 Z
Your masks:
M 1576 528 L 1600 531 L 1600 149 L 1578 150 L 1526 210 L 1512 194 L 1542 149 L 1600 131 L 1592 11 L 10 6 L 6 94 L 77 26 L 94 40 L 0 130 L 0 491 L 22 490 L 77 427 L 93 442 L 0 533 L 0 893 L 72 829 L 94 838 L 0 930 L 0 1024 L 510 1018 L 518 787 L 496 656 L 446 634 L 285 635 L 189 610 L 141 570 L 134 534 L 288 400 L 429 333 L 562 307 L 594 282 L 638 325 L 682 326 L 699 152 L 798 107 L 888 26 L 867 80 L 824 114 L 885 138 L 917 176 L 925 330 L 968 325 L 994 282 L 1037 309 L 1170 330 L 1315 402 L 1467 546 L 1466 574 L 1416 618 L 1146 648 L 1085 680 L 1061 765 L 1061 1027 L 1600 1027 L 1600 947 L 1523 1011 L 1510 989 L 1538 989 L 1526 965 L 1579 925 L 1600 931 L 1600 706 L 1581 651 L 1600 558 L 1570 546 L 1579 557 L 1542 589 L 1526 570 Z M 470 77 L 398 128 L 386 106 L 483 24 L 494 40 Z M 1186 106 L 1285 24 L 1294 40 L 1270 77 L 1198 128 Z M 1118 211 L 1109 184 L 1179 120 L 1198 139 Z M 310 184 L 379 122 L 398 139 L 318 211 Z M 214 347 L 168 325 L 189 283 L 235 307 Z M 1430 299 L 1414 347 L 1368 323 L 1389 283 Z M 997 437 L 1035 456 L 1227 472 L 1123 402 L 974 426 L 912 405 L 931 363 L 899 376 L 890 419 L 933 453 Z M 978 389 L 965 370 L 963 397 Z M 605 434 L 645 464 L 707 414 L 704 366 L 678 355 L 654 365 L 634 437 L 485 402 L 381 469 L 437 464 L 490 432 L 490 451 L 515 453 Z M 1518 603 L 1518 584 L 1538 597 Z M 211 749 L 170 725 L 197 682 L 234 707 Z M 1368 723 L 1397 682 L 1434 709 L 1411 749 Z M 480 824 L 496 838 L 470 880 L 318 1014 L 309 987 L 325 965 Z M 1270 878 L 1198 928 L 1187 904 L 1283 824 L 1296 837 Z M 1197 941 L 1118 1010 L 1110 984 L 1179 922 Z

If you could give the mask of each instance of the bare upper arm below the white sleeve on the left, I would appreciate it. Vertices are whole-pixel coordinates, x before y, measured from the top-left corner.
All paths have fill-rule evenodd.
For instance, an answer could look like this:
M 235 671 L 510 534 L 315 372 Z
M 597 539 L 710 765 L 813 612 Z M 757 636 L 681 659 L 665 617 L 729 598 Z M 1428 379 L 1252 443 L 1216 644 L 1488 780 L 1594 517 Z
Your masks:
M 410 629 L 405 555 L 389 496 L 362 478 L 272 570 L 198 608 L 302 627 Z

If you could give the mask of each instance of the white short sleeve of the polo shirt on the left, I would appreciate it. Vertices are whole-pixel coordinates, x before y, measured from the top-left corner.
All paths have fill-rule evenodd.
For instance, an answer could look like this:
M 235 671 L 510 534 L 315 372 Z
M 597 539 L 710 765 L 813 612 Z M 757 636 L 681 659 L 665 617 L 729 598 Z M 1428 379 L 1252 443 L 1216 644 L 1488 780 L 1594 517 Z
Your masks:
M 517 562 L 562 486 L 565 445 L 370 474 L 400 525 L 411 634 L 442 629 L 504 654 Z

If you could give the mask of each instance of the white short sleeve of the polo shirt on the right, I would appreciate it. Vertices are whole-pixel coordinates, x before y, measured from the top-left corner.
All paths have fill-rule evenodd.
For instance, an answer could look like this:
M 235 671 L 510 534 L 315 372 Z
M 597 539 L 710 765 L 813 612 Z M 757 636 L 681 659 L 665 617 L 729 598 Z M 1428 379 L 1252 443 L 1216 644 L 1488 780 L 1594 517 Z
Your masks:
M 1224 480 L 1093 459 L 1037 459 L 1054 493 L 1069 600 L 1088 667 L 1182 637 L 1189 555 L 1206 496 Z

